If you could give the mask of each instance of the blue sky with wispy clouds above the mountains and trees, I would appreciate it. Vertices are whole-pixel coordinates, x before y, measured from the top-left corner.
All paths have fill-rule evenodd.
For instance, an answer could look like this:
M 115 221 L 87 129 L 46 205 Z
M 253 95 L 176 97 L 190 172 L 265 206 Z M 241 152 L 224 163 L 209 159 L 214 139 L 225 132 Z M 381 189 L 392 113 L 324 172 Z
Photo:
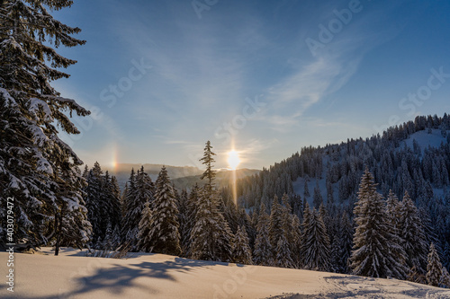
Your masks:
M 194 7 L 195 6 L 195 7 Z M 64 136 L 92 165 L 262 168 L 302 146 L 450 112 L 448 1 L 76 1 L 54 86 L 93 110 Z M 449 75 L 446 75 L 449 74 Z

